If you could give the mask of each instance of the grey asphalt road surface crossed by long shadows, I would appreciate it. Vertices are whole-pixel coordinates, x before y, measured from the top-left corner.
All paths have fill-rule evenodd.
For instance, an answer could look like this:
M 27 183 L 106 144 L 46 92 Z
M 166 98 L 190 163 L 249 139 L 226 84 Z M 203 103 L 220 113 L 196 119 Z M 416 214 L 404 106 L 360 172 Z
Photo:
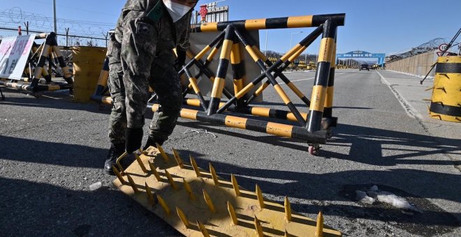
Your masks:
M 287 76 L 310 95 L 314 72 Z M 103 174 L 108 107 L 63 93 L 37 99 L 3 92 L 0 236 L 180 236 Z M 284 109 L 272 89 L 264 99 Z M 334 105 L 339 125 L 316 157 L 305 142 L 184 119 L 165 147 L 194 155 L 200 167 L 212 162 L 219 176 L 235 174 L 247 189 L 258 183 L 270 199 L 288 196 L 293 210 L 309 217 L 323 210 L 325 224 L 344 236 L 460 236 L 460 171 L 449 154 L 460 153 L 461 137 L 428 134 L 374 71 L 338 70 Z M 90 191 L 98 181 L 103 188 Z M 372 185 L 423 212 L 356 201 L 355 191 Z

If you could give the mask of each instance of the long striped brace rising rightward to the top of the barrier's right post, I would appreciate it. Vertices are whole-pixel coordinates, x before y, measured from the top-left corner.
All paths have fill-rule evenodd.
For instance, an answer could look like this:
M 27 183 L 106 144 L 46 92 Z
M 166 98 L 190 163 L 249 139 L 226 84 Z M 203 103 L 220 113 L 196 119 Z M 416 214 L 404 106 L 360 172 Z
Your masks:
M 309 42 L 312 43 L 320 35 L 320 33 L 322 32 L 322 29 L 323 29 L 323 25 L 317 27 L 314 31 L 312 31 L 312 33 L 309 33 L 309 35 L 306 36 L 306 38 L 301 40 L 298 45 L 295 45 L 295 47 L 293 47 L 288 52 L 286 52 L 286 54 L 284 54 L 284 56 L 281 56 L 281 58 L 278 59 L 272 66 L 270 66 L 268 68 L 268 70 L 266 70 L 261 75 L 256 77 L 253 81 L 251 81 L 249 84 L 247 84 L 247 86 L 245 86 L 242 89 L 242 91 L 237 93 L 233 98 L 229 99 L 228 102 L 226 102 L 226 104 L 224 106 L 222 106 L 222 107 L 220 107 L 218 109 L 218 113 L 221 113 L 224 110 L 226 110 L 229 106 L 231 106 L 233 103 L 235 103 L 235 101 L 237 99 L 243 98 L 243 96 L 245 94 L 247 94 L 251 89 L 253 89 L 259 82 L 261 82 L 266 77 L 266 73 L 272 73 L 275 70 L 277 70 L 277 68 L 279 68 L 280 66 L 287 67 L 286 65 L 289 64 L 289 63 L 286 63 L 286 62 L 288 62 L 288 60 L 290 60 L 290 59 L 293 59 L 292 58 L 293 55 L 296 55 L 298 53 L 300 54 L 300 51 L 304 50 L 303 47 L 308 45 Z

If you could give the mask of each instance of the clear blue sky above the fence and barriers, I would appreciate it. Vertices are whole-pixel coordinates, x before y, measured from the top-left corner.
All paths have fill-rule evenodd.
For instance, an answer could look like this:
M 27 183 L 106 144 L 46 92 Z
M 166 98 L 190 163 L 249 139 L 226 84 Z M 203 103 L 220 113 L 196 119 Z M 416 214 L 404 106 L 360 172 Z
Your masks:
M 17 27 L 22 19 L 32 17 L 33 29 L 52 30 L 52 0 L 0 0 L 0 27 Z M 124 0 L 56 0 L 57 17 L 66 20 L 103 22 L 82 24 L 81 22 L 59 24 L 58 32 L 64 27 L 71 32 L 101 32 L 113 28 Z M 199 1 L 208 3 L 210 1 Z M 386 1 L 345 1 L 345 0 L 227 0 L 219 3 L 230 8 L 230 20 L 258 19 L 268 17 L 287 17 L 296 15 L 317 15 L 346 13 L 346 25 L 338 31 L 338 52 L 353 50 L 390 53 L 418 46 L 433 38 L 452 38 L 461 27 L 460 0 L 386 0 Z M 13 8 L 13 10 L 11 10 Z M 13 13 L 13 14 L 12 14 Z M 11 17 L 13 16 L 13 17 Z M 48 17 L 45 20 L 43 17 Z M 11 19 L 13 18 L 13 19 Z M 285 52 L 302 39 L 312 29 L 270 30 L 268 49 Z M 7 36 L 4 31 L 1 35 Z M 98 36 L 102 36 L 98 33 Z M 261 31 L 261 48 L 265 45 L 265 31 Z M 308 50 L 316 54 L 318 43 Z

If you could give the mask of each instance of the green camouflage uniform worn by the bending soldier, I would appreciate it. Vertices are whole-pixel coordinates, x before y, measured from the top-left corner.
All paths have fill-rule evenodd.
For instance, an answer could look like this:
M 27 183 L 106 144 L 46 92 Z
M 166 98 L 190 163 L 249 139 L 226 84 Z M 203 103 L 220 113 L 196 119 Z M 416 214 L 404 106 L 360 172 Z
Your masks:
M 173 48 L 182 51 L 189 48 L 191 14 L 173 23 L 163 3 L 160 3 L 162 14 L 159 20 L 146 19 L 147 13 L 159 1 L 161 0 L 128 0 L 117 22 L 115 38 L 121 42 L 119 55 L 123 73 L 120 81 L 120 64 L 110 68 L 111 71 L 112 68 L 116 71 L 110 72 L 110 78 L 119 82 L 111 82 L 110 90 L 112 94 L 112 86 L 119 86 L 121 94 L 124 93 L 123 88 L 126 91 L 125 97 L 122 95 L 118 100 L 120 104 L 124 101 L 126 120 L 122 119 L 125 114 L 124 108 L 117 107 L 115 102 L 110 129 L 110 138 L 115 142 L 124 142 L 123 128 L 142 128 L 144 125 L 145 109 L 150 95 L 149 86 L 158 95 L 161 105 L 159 110 L 154 112 L 149 137 L 159 143 L 166 141 L 180 115 L 182 87 L 177 70 L 173 67 Z M 117 44 L 112 46 L 115 45 Z M 112 52 L 115 51 L 114 48 L 112 47 Z M 117 92 L 117 89 L 114 91 Z M 120 139 L 115 139 L 113 135 Z

